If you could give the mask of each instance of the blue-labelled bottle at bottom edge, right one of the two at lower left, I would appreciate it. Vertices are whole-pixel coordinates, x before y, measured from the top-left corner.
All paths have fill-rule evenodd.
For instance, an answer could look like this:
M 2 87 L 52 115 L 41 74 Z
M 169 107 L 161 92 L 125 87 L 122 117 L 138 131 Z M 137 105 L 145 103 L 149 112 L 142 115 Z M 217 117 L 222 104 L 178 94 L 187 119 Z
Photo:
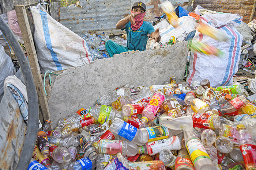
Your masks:
M 94 170 L 96 163 L 87 157 L 79 159 L 68 166 L 68 170 Z

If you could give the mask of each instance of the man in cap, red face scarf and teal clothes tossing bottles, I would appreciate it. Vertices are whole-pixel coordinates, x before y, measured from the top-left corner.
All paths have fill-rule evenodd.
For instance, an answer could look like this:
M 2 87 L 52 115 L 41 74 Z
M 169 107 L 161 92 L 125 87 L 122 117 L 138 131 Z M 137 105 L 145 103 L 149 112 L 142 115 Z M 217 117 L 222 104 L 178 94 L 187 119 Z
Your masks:
M 155 43 L 160 41 L 159 29 L 155 30 L 150 22 L 143 21 L 145 14 L 146 5 L 138 1 L 132 5 L 131 14 L 118 21 L 116 28 L 125 29 L 127 33 L 127 47 L 115 43 L 112 40 L 106 41 L 105 47 L 109 57 L 126 51 L 146 50 L 148 36 L 150 37 L 149 40 L 155 39 Z

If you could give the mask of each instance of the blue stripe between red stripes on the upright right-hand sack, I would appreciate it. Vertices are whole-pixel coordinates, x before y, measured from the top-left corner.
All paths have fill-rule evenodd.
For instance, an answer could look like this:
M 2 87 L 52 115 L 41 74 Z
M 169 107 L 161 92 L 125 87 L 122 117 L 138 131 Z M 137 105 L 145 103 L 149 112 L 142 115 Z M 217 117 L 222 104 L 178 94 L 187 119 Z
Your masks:
M 230 66 L 231 66 L 231 59 L 232 59 L 232 53 L 233 53 L 233 49 L 234 49 L 234 35 L 231 34 L 231 32 L 226 28 L 226 27 L 222 27 L 222 29 L 224 31 L 226 31 L 227 35 L 230 35 L 232 38 L 231 38 L 231 44 L 230 44 L 230 48 L 229 48 L 229 61 L 227 63 L 227 67 L 226 67 L 226 72 L 225 72 L 225 76 L 223 78 L 223 81 L 221 83 L 221 85 L 223 85 L 226 81 L 227 81 L 227 78 L 229 77 L 229 70 L 230 70 Z

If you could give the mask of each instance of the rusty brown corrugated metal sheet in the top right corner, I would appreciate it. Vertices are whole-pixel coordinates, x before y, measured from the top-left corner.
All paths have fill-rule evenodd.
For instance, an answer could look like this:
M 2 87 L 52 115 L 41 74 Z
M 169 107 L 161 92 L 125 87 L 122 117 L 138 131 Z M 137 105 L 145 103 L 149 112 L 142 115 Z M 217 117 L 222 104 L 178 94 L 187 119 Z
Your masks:
M 238 13 L 245 23 L 249 22 L 254 0 L 194 0 L 193 9 L 200 5 L 204 9 L 225 13 Z M 253 18 L 256 17 L 256 12 Z

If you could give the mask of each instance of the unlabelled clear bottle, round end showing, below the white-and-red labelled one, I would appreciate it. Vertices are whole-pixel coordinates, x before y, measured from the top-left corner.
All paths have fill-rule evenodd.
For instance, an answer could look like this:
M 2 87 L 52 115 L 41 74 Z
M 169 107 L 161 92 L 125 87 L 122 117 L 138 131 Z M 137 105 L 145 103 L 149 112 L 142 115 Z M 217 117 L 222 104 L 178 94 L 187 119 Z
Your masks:
M 163 150 L 159 153 L 159 160 L 165 164 L 165 166 L 170 167 L 171 169 L 175 168 L 175 161 L 176 161 L 176 156 L 172 154 L 170 150 Z

